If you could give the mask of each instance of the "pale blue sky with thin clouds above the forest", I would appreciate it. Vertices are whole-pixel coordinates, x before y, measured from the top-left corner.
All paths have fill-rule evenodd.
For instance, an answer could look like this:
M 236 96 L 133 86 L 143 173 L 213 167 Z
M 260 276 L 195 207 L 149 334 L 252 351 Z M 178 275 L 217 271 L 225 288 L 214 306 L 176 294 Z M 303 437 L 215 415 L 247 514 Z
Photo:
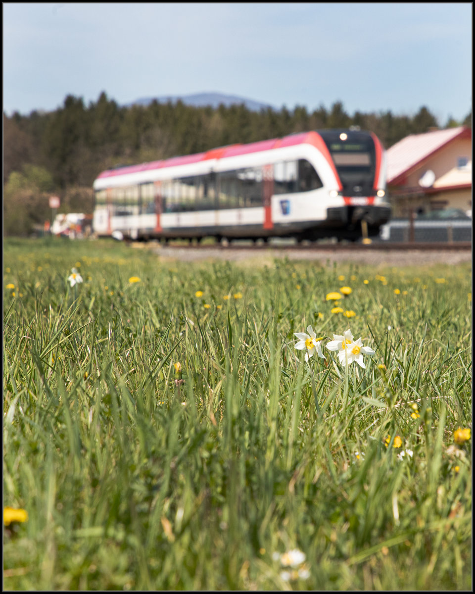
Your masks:
M 413 116 L 471 110 L 466 3 L 4 2 L 3 109 L 52 111 L 68 94 L 216 91 L 309 111 Z

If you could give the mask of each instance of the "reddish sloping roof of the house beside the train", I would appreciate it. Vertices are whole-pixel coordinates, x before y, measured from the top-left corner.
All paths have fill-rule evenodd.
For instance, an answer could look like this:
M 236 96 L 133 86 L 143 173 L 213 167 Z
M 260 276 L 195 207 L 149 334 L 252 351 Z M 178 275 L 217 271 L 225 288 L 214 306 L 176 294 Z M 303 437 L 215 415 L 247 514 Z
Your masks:
M 393 144 L 386 151 L 388 185 L 400 182 L 403 176 L 456 138 L 471 138 L 471 129 L 459 126 L 425 134 L 411 134 Z

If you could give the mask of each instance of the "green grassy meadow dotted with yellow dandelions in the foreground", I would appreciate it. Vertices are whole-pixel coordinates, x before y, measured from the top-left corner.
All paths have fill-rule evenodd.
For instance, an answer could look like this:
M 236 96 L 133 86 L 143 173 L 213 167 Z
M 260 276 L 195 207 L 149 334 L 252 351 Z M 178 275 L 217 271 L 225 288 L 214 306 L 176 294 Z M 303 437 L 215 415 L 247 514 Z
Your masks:
M 5 238 L 3 298 L 5 589 L 471 590 L 470 264 Z

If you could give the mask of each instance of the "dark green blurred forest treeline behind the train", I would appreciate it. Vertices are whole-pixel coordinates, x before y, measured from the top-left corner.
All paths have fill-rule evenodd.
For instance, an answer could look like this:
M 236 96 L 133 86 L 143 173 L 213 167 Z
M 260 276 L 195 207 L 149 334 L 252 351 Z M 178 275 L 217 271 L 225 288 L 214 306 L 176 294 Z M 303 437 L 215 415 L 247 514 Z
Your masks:
M 446 127 L 471 125 L 450 120 Z M 233 143 L 250 143 L 292 132 L 359 126 L 375 132 L 386 148 L 408 134 L 438 127 L 426 107 L 414 116 L 355 112 L 341 102 L 308 112 L 244 105 L 219 108 L 182 102 L 121 107 L 105 93 L 84 105 L 68 95 L 64 105 L 47 113 L 4 113 L 4 232 L 26 234 L 50 217 L 50 194 L 61 197 L 60 212 L 91 212 L 91 186 L 104 169 L 179 154 L 191 154 Z

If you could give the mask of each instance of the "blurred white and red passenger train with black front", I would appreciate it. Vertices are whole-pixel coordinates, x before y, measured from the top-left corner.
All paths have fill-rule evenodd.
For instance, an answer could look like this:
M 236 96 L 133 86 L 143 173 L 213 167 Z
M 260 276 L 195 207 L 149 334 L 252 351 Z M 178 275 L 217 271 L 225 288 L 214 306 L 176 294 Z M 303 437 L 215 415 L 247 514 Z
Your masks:
M 119 166 L 94 181 L 96 236 L 357 241 L 391 216 L 373 132 L 324 129 Z

